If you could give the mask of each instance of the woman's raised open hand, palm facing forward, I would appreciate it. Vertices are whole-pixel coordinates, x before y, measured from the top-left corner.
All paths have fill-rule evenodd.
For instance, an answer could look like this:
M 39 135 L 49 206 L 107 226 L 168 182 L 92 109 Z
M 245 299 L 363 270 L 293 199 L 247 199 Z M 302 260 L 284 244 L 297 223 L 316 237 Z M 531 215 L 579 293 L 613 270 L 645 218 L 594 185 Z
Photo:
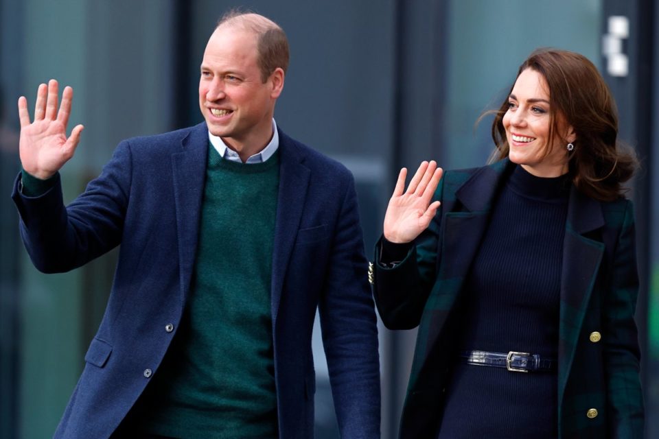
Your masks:
M 430 200 L 439 185 L 442 172 L 435 161 L 421 162 L 405 191 L 407 169 L 400 170 L 384 215 L 384 237 L 388 241 L 411 242 L 426 230 L 440 204 L 439 201 L 430 203 Z

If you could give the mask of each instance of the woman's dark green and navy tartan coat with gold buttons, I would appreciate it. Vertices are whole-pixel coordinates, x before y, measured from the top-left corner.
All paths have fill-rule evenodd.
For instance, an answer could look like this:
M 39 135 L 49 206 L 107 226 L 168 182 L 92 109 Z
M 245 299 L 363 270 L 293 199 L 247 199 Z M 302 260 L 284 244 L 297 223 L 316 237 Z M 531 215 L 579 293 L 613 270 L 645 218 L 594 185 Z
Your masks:
M 511 166 L 506 159 L 446 172 L 435 192 L 442 205 L 413 250 L 393 268 L 373 265 L 373 294 L 385 326 L 419 327 L 401 438 L 437 435 L 454 360 L 451 333 L 459 329 L 451 311 Z M 375 261 L 379 252 L 378 244 Z M 643 438 L 637 295 L 632 202 L 599 202 L 573 188 L 558 322 L 560 438 Z

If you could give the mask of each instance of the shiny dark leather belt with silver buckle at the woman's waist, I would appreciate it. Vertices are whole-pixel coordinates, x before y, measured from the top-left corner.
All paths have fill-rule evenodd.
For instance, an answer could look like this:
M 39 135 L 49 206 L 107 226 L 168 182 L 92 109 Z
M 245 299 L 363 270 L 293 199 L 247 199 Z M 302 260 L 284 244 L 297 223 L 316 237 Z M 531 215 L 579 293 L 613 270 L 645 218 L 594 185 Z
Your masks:
M 511 372 L 549 372 L 557 367 L 556 359 L 526 352 L 461 351 L 459 357 L 466 364 L 506 368 Z

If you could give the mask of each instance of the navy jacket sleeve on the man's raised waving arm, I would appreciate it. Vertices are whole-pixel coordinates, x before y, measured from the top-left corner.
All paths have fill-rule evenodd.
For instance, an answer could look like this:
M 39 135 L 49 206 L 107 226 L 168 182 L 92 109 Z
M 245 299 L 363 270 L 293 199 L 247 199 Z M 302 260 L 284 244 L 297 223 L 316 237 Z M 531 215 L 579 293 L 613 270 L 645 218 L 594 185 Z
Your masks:
M 130 187 L 130 149 L 119 144 L 102 174 L 65 207 L 59 176 L 37 197 L 19 190 L 12 199 L 21 217 L 21 237 L 34 266 L 45 273 L 67 272 L 119 245 Z

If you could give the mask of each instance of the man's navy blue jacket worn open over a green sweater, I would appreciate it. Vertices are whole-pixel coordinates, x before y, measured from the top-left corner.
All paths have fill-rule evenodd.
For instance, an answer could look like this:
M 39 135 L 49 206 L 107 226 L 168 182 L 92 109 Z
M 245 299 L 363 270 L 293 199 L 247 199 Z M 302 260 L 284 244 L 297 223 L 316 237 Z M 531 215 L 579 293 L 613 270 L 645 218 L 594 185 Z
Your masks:
M 29 198 L 16 179 L 12 198 L 38 270 L 66 272 L 121 245 L 56 438 L 108 438 L 146 387 L 145 371 L 158 373 L 190 292 L 208 148 L 205 123 L 122 141 L 67 207 L 59 183 Z M 342 436 L 379 437 L 378 333 L 354 179 L 281 131 L 279 157 L 271 290 L 279 437 L 313 437 L 316 307 Z

